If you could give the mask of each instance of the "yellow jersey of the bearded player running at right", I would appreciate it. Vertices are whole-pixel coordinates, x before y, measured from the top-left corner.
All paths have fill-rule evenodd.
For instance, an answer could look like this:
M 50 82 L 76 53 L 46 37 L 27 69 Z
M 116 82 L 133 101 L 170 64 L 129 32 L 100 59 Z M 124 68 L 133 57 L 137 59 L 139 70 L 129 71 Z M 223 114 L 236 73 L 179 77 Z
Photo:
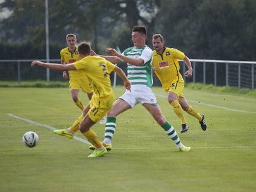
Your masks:
M 155 74 L 161 81 L 164 90 L 168 90 L 173 79 L 183 80 L 179 70 L 178 60 L 184 60 L 185 54 L 177 49 L 164 47 L 163 54 L 153 51 L 152 66 L 156 67 Z

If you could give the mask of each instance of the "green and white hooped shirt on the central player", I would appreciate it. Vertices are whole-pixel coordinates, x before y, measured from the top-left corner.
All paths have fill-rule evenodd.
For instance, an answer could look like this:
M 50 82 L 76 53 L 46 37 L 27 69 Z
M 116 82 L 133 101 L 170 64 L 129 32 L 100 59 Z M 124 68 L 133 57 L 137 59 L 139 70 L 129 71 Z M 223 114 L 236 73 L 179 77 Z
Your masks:
M 129 58 L 141 58 L 144 63 L 140 66 L 135 66 L 127 63 L 127 77 L 132 84 L 143 84 L 151 87 L 152 79 L 152 49 L 147 45 L 143 47 L 130 47 L 122 52 Z

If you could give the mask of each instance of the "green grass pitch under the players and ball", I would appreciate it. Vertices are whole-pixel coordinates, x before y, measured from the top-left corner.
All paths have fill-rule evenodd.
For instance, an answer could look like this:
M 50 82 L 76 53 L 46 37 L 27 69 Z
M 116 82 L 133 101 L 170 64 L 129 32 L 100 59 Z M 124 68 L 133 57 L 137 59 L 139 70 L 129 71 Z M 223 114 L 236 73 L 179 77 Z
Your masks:
M 255 191 L 255 98 L 185 88 L 186 98 L 204 113 L 208 128 L 202 131 L 185 113 L 189 131 L 180 134 L 180 120 L 166 93 L 157 87 L 153 91 L 191 152 L 179 152 L 137 105 L 118 116 L 113 150 L 89 158 L 92 152 L 86 143 L 40 125 L 63 129 L 81 115 L 68 88 L 0 88 L 0 191 Z M 116 97 L 122 93 L 123 87 L 115 88 Z M 86 95 L 79 95 L 86 104 Z M 104 125 L 96 124 L 93 130 L 103 140 Z M 27 131 L 39 136 L 35 148 L 22 144 Z M 83 138 L 80 132 L 76 136 Z

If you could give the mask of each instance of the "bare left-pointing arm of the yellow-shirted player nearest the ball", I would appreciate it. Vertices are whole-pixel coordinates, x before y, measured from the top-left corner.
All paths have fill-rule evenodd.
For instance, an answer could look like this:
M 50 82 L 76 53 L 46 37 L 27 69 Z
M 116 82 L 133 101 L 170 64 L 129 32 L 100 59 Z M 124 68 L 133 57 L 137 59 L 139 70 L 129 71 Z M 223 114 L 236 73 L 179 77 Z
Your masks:
M 35 67 L 36 65 L 38 65 L 39 67 L 50 68 L 52 70 L 57 70 L 57 71 L 76 70 L 76 67 L 74 67 L 74 65 L 72 64 L 61 65 L 58 63 L 44 63 L 42 61 L 37 61 L 37 60 L 31 63 L 31 67 Z

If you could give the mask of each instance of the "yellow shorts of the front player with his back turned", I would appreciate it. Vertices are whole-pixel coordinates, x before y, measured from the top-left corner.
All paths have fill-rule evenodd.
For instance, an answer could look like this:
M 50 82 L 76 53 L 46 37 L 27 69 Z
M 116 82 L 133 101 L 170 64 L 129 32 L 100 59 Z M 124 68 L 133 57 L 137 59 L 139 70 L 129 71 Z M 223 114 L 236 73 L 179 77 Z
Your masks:
M 93 122 L 98 122 L 103 118 L 104 115 L 108 113 L 109 109 L 112 108 L 115 101 L 115 96 L 113 92 L 107 97 L 100 99 L 94 96 L 95 95 L 92 96 L 92 99 L 89 102 L 90 110 L 87 114 L 90 116 L 90 119 Z

